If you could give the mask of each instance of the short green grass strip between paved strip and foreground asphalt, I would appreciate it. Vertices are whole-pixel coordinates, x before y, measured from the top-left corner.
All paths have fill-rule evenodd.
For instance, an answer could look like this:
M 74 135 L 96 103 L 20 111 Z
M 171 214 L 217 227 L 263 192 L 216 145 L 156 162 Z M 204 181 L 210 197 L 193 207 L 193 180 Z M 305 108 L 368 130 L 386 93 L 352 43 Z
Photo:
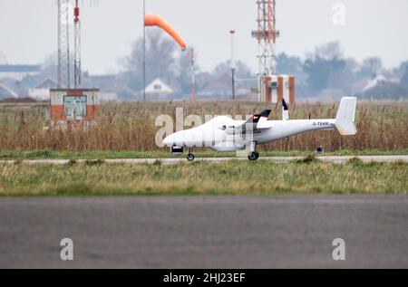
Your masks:
M 0 165 L 0 196 L 197 196 L 407 194 L 408 164 L 344 165 L 316 160 L 277 165 L 233 160 L 175 166 Z

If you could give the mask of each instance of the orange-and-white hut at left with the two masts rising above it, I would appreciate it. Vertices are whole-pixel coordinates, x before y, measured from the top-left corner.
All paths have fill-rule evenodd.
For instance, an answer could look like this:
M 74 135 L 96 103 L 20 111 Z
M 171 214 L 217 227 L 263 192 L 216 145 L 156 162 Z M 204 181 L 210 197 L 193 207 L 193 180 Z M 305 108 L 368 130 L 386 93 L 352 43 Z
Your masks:
M 78 0 L 58 4 L 58 89 L 50 90 L 51 129 L 89 129 L 99 117 L 100 91 L 81 84 L 81 19 Z M 93 1 L 92 3 L 95 3 Z M 73 8 L 73 10 L 72 10 Z M 73 13 L 73 14 L 72 14 Z M 73 18 L 72 18 L 73 16 Z M 73 24 L 73 89 L 70 72 L 70 25 Z

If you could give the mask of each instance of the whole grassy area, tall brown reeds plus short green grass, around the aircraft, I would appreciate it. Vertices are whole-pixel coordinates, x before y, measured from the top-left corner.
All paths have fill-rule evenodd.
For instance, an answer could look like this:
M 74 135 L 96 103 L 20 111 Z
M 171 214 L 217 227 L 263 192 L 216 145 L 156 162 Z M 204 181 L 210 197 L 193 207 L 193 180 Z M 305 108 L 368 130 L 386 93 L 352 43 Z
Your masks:
M 352 160 L 334 165 L 312 160 L 277 165 L 230 161 L 160 164 L 168 148 L 155 144 L 156 117 L 182 107 L 184 117 L 252 115 L 280 106 L 251 102 L 106 103 L 96 127 L 89 130 L 44 130 L 46 104 L 0 104 L 0 160 L 101 159 L 70 165 L 0 164 L 0 196 L 96 195 L 280 195 L 280 194 L 407 194 L 408 164 L 363 164 Z M 335 118 L 338 103 L 301 103 L 291 119 Z M 408 103 L 359 102 L 358 134 L 312 132 L 259 147 L 262 157 L 306 157 L 317 146 L 323 156 L 408 154 Z M 188 127 L 185 127 L 188 128 Z M 198 158 L 232 158 L 235 153 L 195 150 Z M 154 165 L 104 164 L 111 158 L 158 158 Z

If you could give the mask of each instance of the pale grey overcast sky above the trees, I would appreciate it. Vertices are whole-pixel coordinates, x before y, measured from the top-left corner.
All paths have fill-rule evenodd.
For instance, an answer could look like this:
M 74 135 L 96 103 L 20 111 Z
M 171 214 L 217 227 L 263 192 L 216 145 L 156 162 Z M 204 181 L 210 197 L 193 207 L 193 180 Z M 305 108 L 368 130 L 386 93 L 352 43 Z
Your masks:
M 81 1 L 84 69 L 119 71 L 118 60 L 142 34 L 142 1 Z M 204 70 L 228 60 L 230 29 L 237 31 L 237 58 L 256 69 L 257 43 L 250 37 L 255 0 L 146 1 L 148 12 L 160 14 L 196 47 Z M 336 3 L 345 4 L 345 25 L 333 22 Z M 7 62 L 39 63 L 56 51 L 55 0 L 0 0 L 0 11 L 0 53 Z M 277 27 L 278 52 L 304 57 L 318 44 L 339 41 L 345 55 L 357 60 L 379 56 L 386 67 L 408 60 L 406 0 L 277 0 Z

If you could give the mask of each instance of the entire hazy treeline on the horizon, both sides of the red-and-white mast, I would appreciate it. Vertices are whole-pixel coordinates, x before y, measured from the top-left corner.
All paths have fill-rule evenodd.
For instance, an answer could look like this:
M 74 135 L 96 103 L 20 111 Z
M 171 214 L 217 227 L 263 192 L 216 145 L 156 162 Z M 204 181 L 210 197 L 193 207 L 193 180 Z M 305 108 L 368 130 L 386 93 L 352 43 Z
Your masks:
M 180 48 L 160 31 L 147 33 L 146 82 L 156 78 L 165 81 L 180 94 L 191 91 L 190 51 L 180 52 Z M 197 91 L 211 91 L 222 88 L 230 92 L 229 62 L 220 62 L 212 71 L 203 72 L 199 67 L 199 51 L 196 51 Z M 44 63 L 44 75 L 53 76 L 55 67 L 48 59 Z M 115 75 L 115 86 L 121 99 L 134 99 L 143 89 L 143 42 L 138 39 L 132 45 L 131 53 L 120 60 L 121 72 Z M 398 67 L 386 69 L 378 57 L 369 57 L 361 62 L 346 58 L 341 44 L 325 43 L 316 47 L 305 58 L 279 53 L 277 72 L 296 76 L 296 94 L 310 100 L 338 100 L 343 96 L 359 96 L 373 100 L 408 99 L 408 60 Z M 257 87 L 256 72 L 244 62 L 237 63 L 239 89 Z M 248 81 L 248 79 L 254 79 Z M 226 88 L 227 87 L 227 88 Z

